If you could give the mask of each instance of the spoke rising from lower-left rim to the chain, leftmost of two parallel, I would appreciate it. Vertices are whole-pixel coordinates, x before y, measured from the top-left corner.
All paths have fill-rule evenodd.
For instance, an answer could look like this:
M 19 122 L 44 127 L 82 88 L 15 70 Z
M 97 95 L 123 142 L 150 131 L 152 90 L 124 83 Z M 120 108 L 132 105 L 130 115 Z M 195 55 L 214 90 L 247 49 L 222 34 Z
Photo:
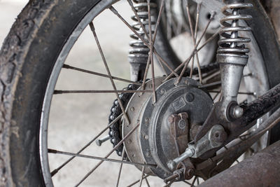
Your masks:
M 95 140 L 97 140 L 98 137 L 100 137 L 106 130 L 109 130 L 109 128 L 115 124 L 118 120 L 120 120 L 120 118 L 123 117 L 123 114 L 120 114 L 120 116 L 118 116 L 115 120 L 113 120 L 108 126 L 106 126 L 104 128 L 104 130 L 102 130 L 101 132 L 99 132 L 99 134 L 97 134 L 96 137 L 94 137 L 92 140 L 90 140 L 85 146 L 83 146 L 83 148 L 81 148 L 77 154 L 81 153 L 82 151 L 85 150 L 85 148 L 87 148 L 88 146 L 90 146 L 92 144 L 92 142 L 94 142 Z M 57 172 L 62 169 L 65 165 L 67 165 L 71 160 L 73 160 L 73 158 L 75 158 L 76 156 L 72 156 L 71 158 L 69 158 L 68 160 L 66 160 L 66 162 L 64 162 L 62 165 L 60 165 L 59 167 L 57 167 L 57 169 L 52 170 L 52 172 L 50 173 L 51 176 L 54 176 L 55 174 L 57 174 Z

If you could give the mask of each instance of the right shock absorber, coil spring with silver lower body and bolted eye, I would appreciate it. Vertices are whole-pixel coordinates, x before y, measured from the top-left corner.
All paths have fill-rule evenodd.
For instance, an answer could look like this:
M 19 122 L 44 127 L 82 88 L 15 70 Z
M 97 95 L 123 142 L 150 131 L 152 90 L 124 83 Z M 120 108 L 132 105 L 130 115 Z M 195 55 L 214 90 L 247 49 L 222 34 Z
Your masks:
M 240 11 L 251 7 L 253 5 L 244 3 L 244 0 L 230 0 L 222 9 L 225 18 L 221 19 L 223 28 L 220 35 L 223 38 L 218 41 L 217 61 L 221 69 L 223 92 L 221 113 L 226 120 L 240 118 L 243 114 L 237 105 L 237 95 L 244 67 L 248 63 L 247 53 L 250 51 L 244 43 L 251 42 L 251 39 L 242 37 L 241 32 L 251 32 L 251 27 L 246 26 L 245 21 L 251 20 L 252 16 L 243 15 Z

